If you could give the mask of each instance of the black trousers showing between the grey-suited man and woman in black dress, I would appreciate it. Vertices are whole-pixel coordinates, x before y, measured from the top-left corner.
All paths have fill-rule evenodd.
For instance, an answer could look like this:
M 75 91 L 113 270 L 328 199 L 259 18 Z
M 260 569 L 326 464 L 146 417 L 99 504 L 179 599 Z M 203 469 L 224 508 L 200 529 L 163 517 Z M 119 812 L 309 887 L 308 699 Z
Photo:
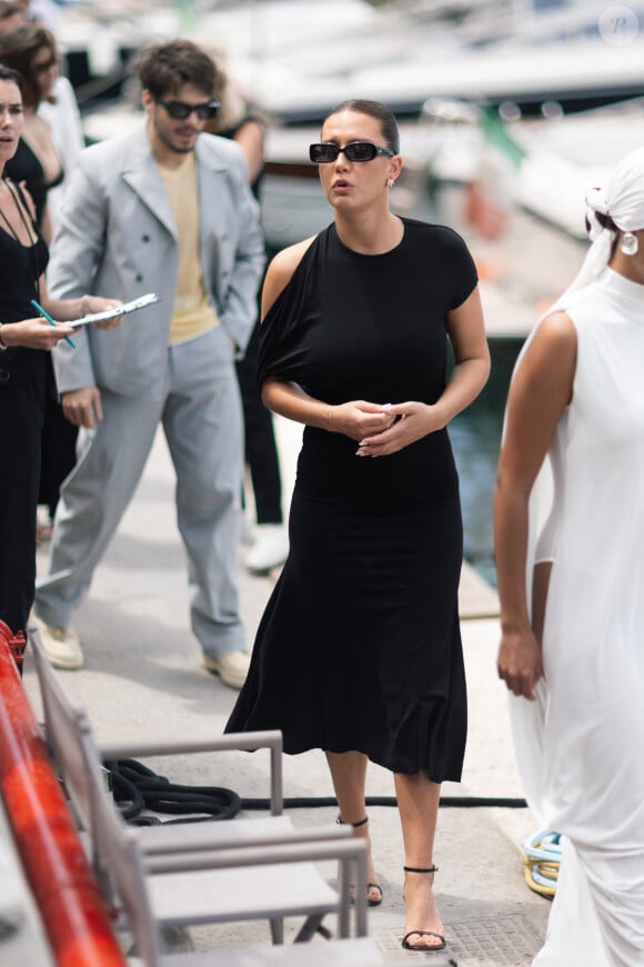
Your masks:
M 258 387 L 259 325 L 245 357 L 237 363 L 245 431 L 245 461 L 255 497 L 258 524 L 282 524 L 282 479 L 273 418 Z

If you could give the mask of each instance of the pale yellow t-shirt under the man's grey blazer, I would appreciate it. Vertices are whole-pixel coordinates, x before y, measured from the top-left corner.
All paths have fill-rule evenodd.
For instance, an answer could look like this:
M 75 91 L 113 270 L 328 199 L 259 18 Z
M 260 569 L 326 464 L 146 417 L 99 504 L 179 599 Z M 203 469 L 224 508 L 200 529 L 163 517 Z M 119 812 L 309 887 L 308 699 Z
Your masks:
M 170 345 L 194 339 L 219 323 L 203 285 L 199 258 L 199 185 L 197 162 L 190 153 L 177 169 L 159 166 L 179 239 L 179 276 Z

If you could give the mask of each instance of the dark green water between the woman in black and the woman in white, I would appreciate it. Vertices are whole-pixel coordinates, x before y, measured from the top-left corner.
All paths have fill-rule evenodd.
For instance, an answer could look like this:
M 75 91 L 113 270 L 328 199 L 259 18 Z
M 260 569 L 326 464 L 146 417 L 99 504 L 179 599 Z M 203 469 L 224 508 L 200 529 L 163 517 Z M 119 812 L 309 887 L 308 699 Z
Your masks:
M 494 586 L 492 495 L 507 387 L 520 348 L 519 340 L 491 340 L 490 380 L 472 406 L 450 425 L 461 478 L 465 559 Z

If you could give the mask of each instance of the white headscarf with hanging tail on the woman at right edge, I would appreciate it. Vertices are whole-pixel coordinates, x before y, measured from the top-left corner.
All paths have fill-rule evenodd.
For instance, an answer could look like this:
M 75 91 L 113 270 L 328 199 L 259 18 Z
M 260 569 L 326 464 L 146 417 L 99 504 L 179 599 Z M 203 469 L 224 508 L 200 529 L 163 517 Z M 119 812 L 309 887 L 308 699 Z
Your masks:
M 621 231 L 644 229 L 644 148 L 637 148 L 622 159 L 605 188 L 587 191 L 586 209 L 592 246 L 571 285 L 547 310 L 549 316 L 564 308 L 573 292 L 594 282 L 608 265 L 615 232 L 602 228 L 597 212 L 612 218 Z

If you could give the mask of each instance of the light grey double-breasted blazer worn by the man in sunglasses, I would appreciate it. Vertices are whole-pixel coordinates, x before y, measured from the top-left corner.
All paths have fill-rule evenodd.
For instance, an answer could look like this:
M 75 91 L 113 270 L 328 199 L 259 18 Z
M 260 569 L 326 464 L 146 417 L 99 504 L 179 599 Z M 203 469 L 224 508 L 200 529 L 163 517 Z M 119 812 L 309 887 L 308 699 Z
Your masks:
M 200 134 L 195 144 L 203 281 L 232 346 L 243 349 L 256 319 L 264 266 L 259 207 L 234 141 Z M 172 210 L 145 122 L 87 148 L 58 218 L 48 286 L 56 298 L 85 292 L 128 301 L 155 292 L 159 303 L 101 331 L 90 326 L 76 349 L 54 352 L 59 392 L 98 386 L 158 399 L 179 265 Z

